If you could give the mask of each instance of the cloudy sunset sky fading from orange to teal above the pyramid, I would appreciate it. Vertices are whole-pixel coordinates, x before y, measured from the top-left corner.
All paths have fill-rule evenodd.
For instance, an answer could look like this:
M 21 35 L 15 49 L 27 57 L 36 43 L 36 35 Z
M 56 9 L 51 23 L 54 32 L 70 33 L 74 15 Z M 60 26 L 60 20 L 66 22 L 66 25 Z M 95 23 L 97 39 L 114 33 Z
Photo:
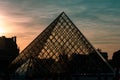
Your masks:
M 63 11 L 109 58 L 120 49 L 120 0 L 0 0 L 0 36 L 22 51 Z

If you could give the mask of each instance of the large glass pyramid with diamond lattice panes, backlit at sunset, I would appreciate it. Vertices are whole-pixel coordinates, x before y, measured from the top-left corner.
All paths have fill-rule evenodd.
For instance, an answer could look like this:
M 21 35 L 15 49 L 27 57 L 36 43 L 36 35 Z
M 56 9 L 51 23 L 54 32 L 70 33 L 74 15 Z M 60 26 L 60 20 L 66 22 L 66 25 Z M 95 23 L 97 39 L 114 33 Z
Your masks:
M 108 62 L 64 12 L 12 61 L 9 68 L 17 74 L 38 76 L 94 73 L 98 69 L 112 72 Z

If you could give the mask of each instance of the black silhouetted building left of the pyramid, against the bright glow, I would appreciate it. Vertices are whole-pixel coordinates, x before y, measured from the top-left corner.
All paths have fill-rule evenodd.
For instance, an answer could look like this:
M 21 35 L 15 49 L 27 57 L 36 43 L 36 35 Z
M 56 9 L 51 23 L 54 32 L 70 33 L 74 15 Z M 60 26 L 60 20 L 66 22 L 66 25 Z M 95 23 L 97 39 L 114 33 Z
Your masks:
M 18 54 L 19 49 L 16 44 L 16 37 L 0 37 L 0 74 L 6 71 L 8 65 Z

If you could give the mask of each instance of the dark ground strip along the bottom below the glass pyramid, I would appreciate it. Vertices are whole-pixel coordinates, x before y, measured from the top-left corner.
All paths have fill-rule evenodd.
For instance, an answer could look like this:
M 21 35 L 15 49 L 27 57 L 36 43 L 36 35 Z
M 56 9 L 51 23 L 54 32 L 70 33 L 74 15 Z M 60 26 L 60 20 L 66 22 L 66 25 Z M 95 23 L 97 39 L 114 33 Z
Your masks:
M 119 77 L 114 75 L 72 75 L 72 76 L 49 76 L 49 77 L 26 77 L 26 76 L 11 76 L 0 78 L 0 80 L 119 80 Z

